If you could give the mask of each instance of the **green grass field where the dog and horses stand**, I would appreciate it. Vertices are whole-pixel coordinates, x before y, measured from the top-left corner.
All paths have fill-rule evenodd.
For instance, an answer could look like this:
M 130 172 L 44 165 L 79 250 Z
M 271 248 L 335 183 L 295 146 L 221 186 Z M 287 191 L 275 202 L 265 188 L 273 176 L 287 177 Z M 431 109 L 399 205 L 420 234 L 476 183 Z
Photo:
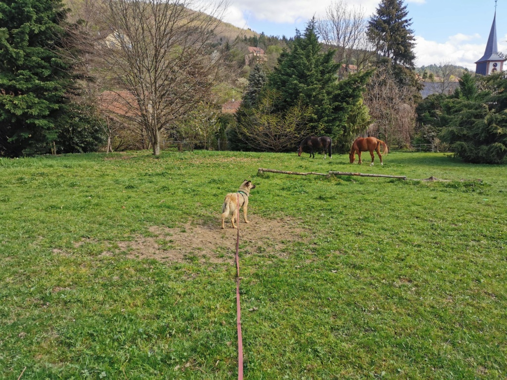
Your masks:
M 0 377 L 237 377 L 235 233 L 220 212 L 250 179 L 246 379 L 505 379 L 506 169 L 410 153 L 383 167 L 215 151 L 0 159 Z M 224 246 L 164 257 L 194 227 Z

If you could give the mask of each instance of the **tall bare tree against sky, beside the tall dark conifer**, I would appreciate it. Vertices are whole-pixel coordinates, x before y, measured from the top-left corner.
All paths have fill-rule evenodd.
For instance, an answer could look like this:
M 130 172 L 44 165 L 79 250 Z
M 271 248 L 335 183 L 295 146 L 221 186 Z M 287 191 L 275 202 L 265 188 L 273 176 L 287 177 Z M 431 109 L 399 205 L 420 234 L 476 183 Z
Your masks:
M 343 0 L 332 3 L 325 17 L 317 20 L 321 41 L 328 49 L 336 49 L 335 59 L 342 62 L 345 69 L 352 63 L 362 69 L 375 55 L 366 36 L 367 26 L 364 9 L 350 8 Z

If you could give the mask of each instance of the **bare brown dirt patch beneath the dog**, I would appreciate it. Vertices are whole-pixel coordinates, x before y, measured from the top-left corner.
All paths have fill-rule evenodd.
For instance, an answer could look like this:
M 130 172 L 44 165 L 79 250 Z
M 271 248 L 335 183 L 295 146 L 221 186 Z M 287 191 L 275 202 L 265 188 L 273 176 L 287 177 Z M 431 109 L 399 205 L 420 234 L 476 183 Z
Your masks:
M 242 218 L 242 216 L 241 216 Z M 240 252 L 287 256 L 287 246 L 309 236 L 295 219 L 265 219 L 250 215 L 250 223 L 240 224 Z M 220 220 L 215 224 L 187 223 L 182 227 L 150 227 L 153 237 L 136 237 L 119 242 L 120 250 L 130 258 L 152 258 L 172 262 L 234 263 L 236 230 L 231 224 L 222 230 Z M 110 252 L 104 252 L 110 254 Z

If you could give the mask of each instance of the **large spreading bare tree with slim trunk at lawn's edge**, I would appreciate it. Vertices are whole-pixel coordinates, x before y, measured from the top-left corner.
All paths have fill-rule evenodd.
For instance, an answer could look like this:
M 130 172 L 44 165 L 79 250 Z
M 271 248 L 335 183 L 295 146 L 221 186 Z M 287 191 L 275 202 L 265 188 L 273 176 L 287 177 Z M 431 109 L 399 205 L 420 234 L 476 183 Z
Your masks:
M 96 17 L 81 39 L 104 89 L 122 98 L 122 118 L 142 127 L 154 155 L 161 133 L 177 128 L 196 104 L 209 98 L 220 79 L 223 53 L 216 33 L 226 9 L 200 0 L 97 0 L 88 15 Z

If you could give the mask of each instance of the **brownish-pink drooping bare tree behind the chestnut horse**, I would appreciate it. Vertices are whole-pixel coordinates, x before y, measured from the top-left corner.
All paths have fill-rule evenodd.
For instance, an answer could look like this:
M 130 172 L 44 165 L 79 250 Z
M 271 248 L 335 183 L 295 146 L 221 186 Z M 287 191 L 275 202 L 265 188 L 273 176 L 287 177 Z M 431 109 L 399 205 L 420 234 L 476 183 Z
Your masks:
M 374 123 L 370 135 L 382 135 L 388 145 L 409 145 L 415 128 L 417 90 L 397 84 L 390 66 L 377 69 L 365 93 Z

